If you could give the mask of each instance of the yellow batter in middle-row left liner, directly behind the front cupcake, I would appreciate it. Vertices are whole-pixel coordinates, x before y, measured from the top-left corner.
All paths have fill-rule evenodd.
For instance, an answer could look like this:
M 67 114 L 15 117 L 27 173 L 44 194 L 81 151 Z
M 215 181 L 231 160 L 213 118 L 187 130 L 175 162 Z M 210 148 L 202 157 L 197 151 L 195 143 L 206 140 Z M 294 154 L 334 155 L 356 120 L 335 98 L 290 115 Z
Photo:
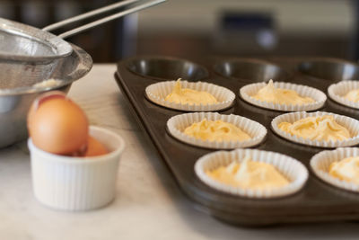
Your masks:
M 184 134 L 201 140 L 209 141 L 245 141 L 250 135 L 223 120 L 201 120 L 184 130 Z

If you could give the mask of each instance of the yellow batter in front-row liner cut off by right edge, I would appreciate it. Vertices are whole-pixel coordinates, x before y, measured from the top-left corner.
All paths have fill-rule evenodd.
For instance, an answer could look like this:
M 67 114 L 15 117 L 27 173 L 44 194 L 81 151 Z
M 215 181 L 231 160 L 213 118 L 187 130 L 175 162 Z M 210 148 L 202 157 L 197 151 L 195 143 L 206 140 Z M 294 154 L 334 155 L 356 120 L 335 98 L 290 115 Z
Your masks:
M 359 184 L 359 156 L 347 157 L 330 164 L 329 174 L 340 180 Z

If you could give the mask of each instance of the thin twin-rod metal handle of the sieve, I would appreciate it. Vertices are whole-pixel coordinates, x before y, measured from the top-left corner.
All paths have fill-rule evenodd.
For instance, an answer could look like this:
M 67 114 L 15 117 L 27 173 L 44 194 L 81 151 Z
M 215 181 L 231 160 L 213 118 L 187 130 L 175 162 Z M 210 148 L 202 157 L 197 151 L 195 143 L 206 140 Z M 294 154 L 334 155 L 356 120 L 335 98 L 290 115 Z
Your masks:
M 138 5 L 136 5 L 134 7 L 131 7 L 129 9 L 125 10 L 125 11 L 115 13 L 113 15 L 109 15 L 107 17 L 104 17 L 104 18 L 100 19 L 100 20 L 90 22 L 90 23 L 87 23 L 87 24 L 85 24 L 85 25 L 83 25 L 81 27 L 78 27 L 78 28 L 75 28 L 73 30 L 61 33 L 60 35 L 58 35 L 58 37 L 60 37 L 62 39 L 65 39 L 67 37 L 73 36 L 74 34 L 80 33 L 82 31 L 92 29 L 93 27 L 101 25 L 102 23 L 110 22 L 110 21 L 112 21 L 114 19 L 117 19 L 119 17 L 123 17 L 123 16 L 125 16 L 127 14 L 130 14 L 130 13 L 136 13 L 136 12 L 138 12 L 140 10 L 143 10 L 145 8 L 151 7 L 151 6 L 156 5 L 156 4 L 161 4 L 161 3 L 165 2 L 165 1 L 167 1 L 167 0 L 154 0 L 154 1 L 147 2 L 145 4 L 138 4 Z M 92 17 L 94 15 L 97 15 L 97 14 L 100 14 L 100 13 L 106 13 L 106 12 L 114 10 L 114 9 L 116 9 L 118 7 L 125 6 L 125 5 L 128 5 L 128 4 L 134 4 L 136 2 L 141 2 L 141 0 L 127 0 L 127 1 L 122 1 L 122 2 L 116 3 L 116 4 L 110 4 L 108 6 L 104 6 L 104 7 L 101 7 L 99 9 L 93 10 L 91 12 L 83 13 L 83 14 L 74 16 L 72 18 L 66 19 L 64 21 L 48 25 L 47 27 L 43 28 L 42 30 L 43 31 L 52 31 L 52 30 L 58 29 L 60 27 L 63 27 L 65 25 L 69 24 L 69 23 L 78 22 L 80 20 Z

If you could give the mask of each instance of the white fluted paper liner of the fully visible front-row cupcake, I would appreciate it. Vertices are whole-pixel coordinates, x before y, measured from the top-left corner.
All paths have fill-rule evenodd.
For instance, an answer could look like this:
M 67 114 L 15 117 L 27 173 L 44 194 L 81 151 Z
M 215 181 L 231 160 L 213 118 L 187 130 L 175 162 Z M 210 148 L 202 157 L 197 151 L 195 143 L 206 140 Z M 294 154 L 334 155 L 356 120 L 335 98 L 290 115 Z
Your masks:
M 251 161 L 274 165 L 276 170 L 282 173 L 290 183 L 285 187 L 272 190 L 249 190 L 217 182 L 206 174 L 207 171 L 229 165 L 233 161 L 241 163 L 246 156 L 250 156 Z M 276 198 L 293 194 L 296 191 L 300 191 L 308 179 L 308 170 L 293 157 L 257 149 L 236 149 L 231 152 L 217 151 L 207 154 L 197 160 L 195 173 L 202 182 L 218 191 L 257 199 Z

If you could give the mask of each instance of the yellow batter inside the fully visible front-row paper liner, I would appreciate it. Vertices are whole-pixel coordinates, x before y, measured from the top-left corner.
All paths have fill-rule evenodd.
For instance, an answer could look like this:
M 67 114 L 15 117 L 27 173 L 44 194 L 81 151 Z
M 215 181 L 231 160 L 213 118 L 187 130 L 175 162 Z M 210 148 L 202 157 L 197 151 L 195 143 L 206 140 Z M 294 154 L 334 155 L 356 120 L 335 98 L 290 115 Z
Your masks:
M 206 174 L 215 181 L 250 190 L 270 190 L 284 187 L 289 181 L 272 164 L 255 162 L 246 156 L 240 164 L 233 161 Z

